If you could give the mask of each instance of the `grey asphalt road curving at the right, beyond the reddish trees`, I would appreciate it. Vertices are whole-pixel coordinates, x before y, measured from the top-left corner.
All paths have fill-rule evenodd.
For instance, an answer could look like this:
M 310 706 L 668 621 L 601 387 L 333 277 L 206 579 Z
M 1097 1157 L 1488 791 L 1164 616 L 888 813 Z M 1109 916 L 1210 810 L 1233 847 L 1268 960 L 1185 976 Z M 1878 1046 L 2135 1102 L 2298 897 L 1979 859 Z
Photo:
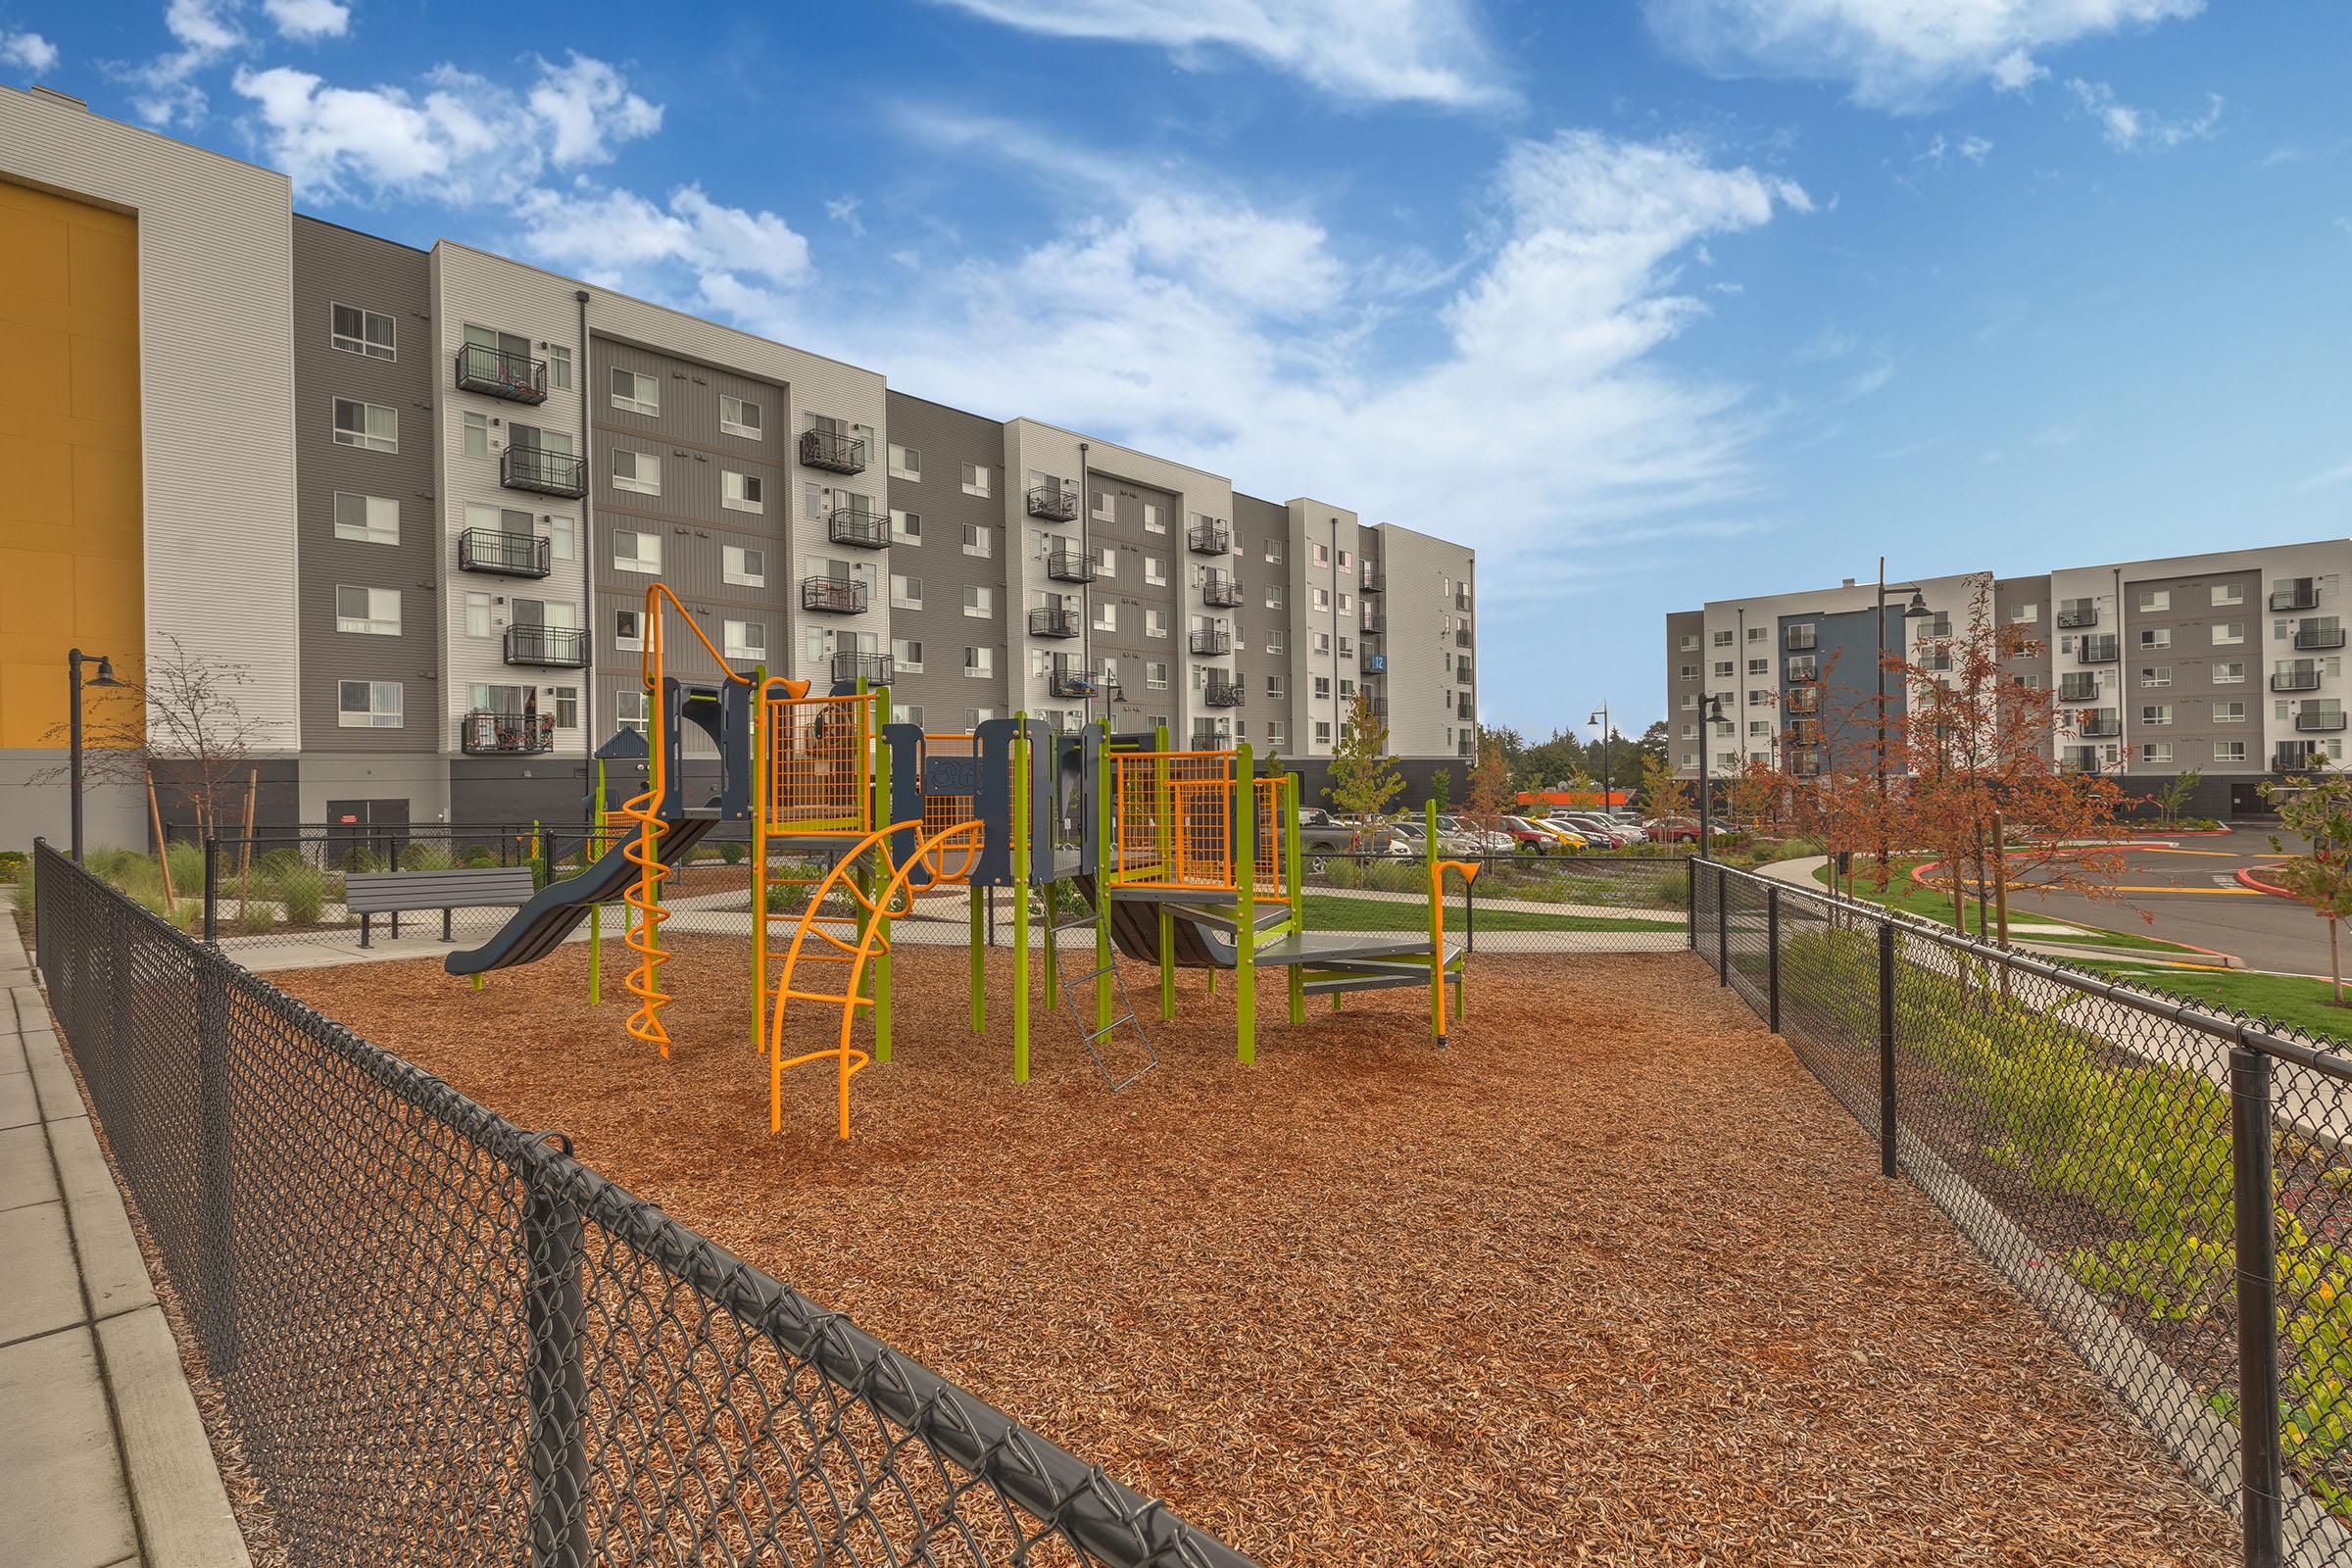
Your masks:
M 2112 877 L 2122 903 L 2065 891 L 2013 886 L 2009 914 L 2058 914 L 2110 931 L 2136 931 L 2169 943 L 2216 947 L 2253 969 L 2328 973 L 2328 926 L 2286 898 L 2239 884 L 2237 867 L 2277 858 L 2267 830 L 2185 835 L 2176 849 L 2133 846 Z M 2140 919 L 2140 914 L 2152 919 Z M 2347 933 L 2352 945 L 2352 933 Z M 2352 961 L 2352 952 L 2347 952 Z

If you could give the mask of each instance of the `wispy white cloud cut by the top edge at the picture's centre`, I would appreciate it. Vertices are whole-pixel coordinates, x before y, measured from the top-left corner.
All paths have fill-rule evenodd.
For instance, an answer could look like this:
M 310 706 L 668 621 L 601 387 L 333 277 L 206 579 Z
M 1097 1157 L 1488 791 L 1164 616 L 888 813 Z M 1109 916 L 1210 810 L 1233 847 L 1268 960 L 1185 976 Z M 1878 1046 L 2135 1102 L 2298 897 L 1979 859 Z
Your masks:
M 1242 54 L 1355 101 L 1498 108 L 1517 94 L 1470 0 L 941 0 L 1054 38 L 1169 49 L 1188 71 Z

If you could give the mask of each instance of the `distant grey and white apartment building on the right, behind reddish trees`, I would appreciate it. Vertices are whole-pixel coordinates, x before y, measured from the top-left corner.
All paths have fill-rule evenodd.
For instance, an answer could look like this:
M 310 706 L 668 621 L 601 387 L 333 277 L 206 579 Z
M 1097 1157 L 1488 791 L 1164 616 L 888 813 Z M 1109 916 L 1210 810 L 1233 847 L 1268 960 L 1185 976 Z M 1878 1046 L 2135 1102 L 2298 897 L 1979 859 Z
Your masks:
M 1919 644 L 1966 630 L 1987 592 L 1992 616 L 2034 642 L 2009 661 L 2009 679 L 2056 691 L 2060 766 L 2110 773 L 2131 795 L 2199 773 L 2190 809 L 2232 816 L 2260 811 L 2267 780 L 2343 762 L 2347 583 L 2352 541 L 1891 583 L 1884 646 L 1931 663 Z M 1877 595 L 1877 583 L 1849 578 L 1670 614 L 1677 773 L 1696 778 L 1700 745 L 1717 773 L 1748 757 L 1806 771 L 1863 755 Z M 1907 614 L 1915 597 L 1926 614 Z M 1889 686 L 1889 712 L 1903 710 L 1900 686 Z M 1698 724 L 1708 696 L 1722 696 L 1726 719 L 1712 741 Z

